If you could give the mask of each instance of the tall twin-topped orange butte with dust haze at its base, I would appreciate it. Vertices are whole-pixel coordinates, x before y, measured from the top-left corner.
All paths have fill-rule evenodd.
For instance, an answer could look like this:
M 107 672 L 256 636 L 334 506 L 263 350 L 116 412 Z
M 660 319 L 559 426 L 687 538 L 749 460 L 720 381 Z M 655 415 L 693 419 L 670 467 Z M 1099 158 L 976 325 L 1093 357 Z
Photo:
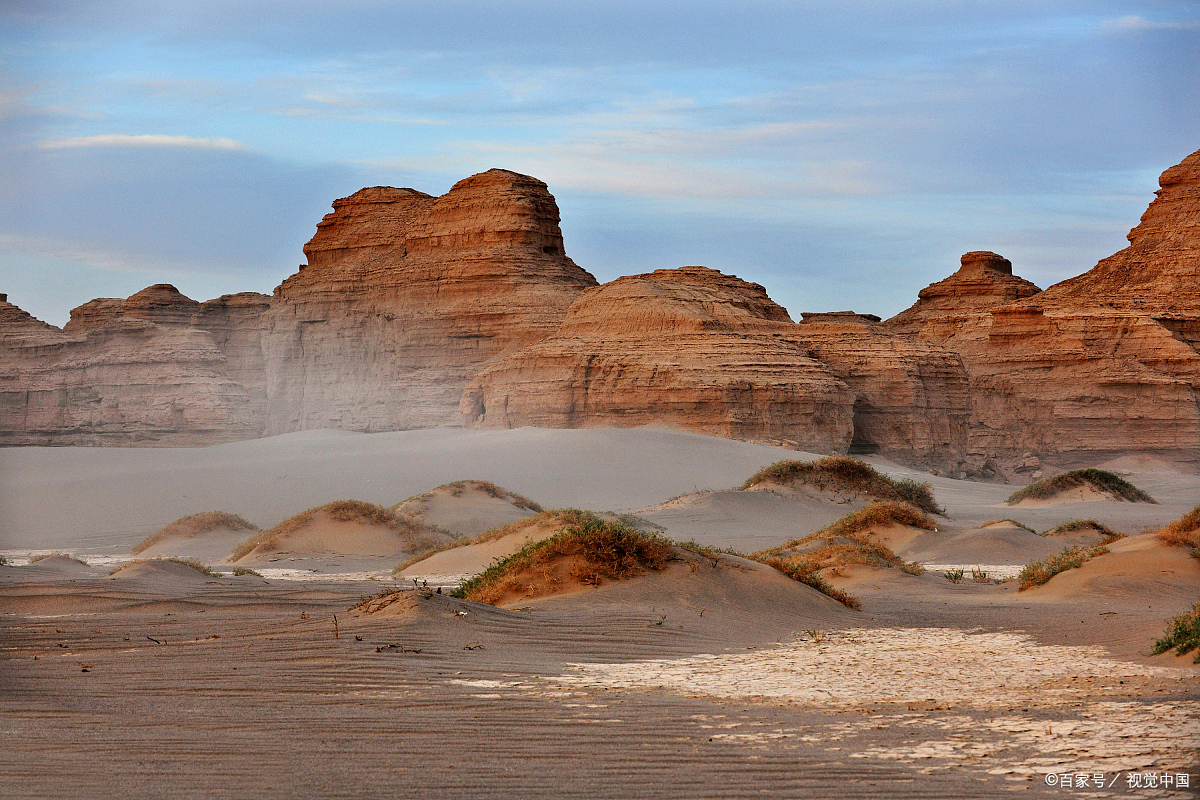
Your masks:
M 470 377 L 595 285 L 565 255 L 546 185 L 500 169 L 436 199 L 362 190 L 305 253 L 268 314 L 268 433 L 460 425 Z

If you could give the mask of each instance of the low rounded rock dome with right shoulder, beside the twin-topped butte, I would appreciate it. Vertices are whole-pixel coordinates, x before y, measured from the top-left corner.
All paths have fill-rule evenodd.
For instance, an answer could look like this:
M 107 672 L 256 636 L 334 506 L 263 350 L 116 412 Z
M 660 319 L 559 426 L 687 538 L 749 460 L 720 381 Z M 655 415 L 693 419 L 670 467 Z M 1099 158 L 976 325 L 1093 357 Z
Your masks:
M 655 425 L 820 452 L 856 437 L 871 450 L 961 447 L 956 357 L 916 343 L 898 360 L 896 338 L 854 323 L 794 325 L 761 285 L 714 270 L 658 270 L 586 291 L 554 336 L 478 374 L 462 413 L 473 427 Z M 924 361 L 946 374 L 923 373 Z

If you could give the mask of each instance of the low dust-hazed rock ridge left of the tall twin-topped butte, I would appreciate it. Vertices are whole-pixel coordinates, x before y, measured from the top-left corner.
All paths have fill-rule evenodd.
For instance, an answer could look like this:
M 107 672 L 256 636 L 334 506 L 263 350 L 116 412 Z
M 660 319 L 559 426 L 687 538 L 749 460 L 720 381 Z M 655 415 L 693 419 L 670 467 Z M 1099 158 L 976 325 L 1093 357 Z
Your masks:
M 0 303 L 0 444 L 187 445 L 259 435 L 265 396 L 247 390 L 251 367 L 229 369 L 238 359 L 253 361 L 253 336 L 227 356 L 198 325 L 202 314 L 200 303 L 167 284 L 85 303 L 64 330 Z

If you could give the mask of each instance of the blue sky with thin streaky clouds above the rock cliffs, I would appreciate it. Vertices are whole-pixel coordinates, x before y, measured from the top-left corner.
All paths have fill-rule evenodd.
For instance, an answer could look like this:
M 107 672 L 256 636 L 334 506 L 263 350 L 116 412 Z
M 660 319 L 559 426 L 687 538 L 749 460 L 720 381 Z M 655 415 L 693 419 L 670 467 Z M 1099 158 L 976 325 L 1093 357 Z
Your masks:
M 1196 149 L 1193 1 L 0 0 L 0 291 L 55 324 L 270 291 L 335 198 L 491 167 L 601 281 L 890 315 L 968 249 L 1090 269 Z

